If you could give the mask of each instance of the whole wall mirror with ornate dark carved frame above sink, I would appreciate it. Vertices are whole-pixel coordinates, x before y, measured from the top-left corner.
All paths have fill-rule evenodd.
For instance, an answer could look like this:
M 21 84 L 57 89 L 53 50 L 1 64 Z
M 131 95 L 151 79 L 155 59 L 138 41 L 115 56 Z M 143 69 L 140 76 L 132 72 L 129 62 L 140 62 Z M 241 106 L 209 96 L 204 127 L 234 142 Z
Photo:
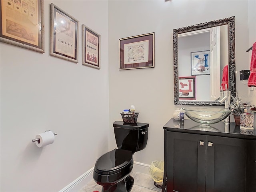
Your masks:
M 235 96 L 234 16 L 174 29 L 173 53 L 174 105 L 224 105 L 221 85 Z

